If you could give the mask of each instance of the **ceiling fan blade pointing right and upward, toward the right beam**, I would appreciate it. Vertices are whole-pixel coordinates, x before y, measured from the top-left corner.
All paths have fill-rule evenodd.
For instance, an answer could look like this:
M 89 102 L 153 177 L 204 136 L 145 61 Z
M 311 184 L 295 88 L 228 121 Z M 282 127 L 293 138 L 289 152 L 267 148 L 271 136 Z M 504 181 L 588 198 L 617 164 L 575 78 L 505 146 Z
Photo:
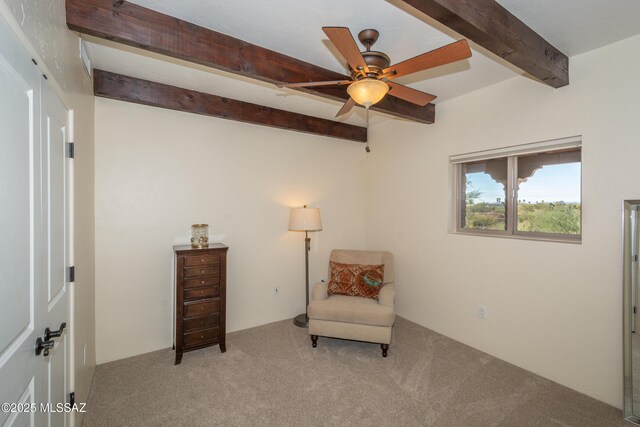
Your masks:
M 470 56 L 471 49 L 469 48 L 469 43 L 462 39 L 430 52 L 423 53 L 422 55 L 414 56 L 406 61 L 399 62 L 385 68 L 382 72 L 384 74 L 391 72 L 387 78 L 395 79 L 396 77 L 406 76 L 407 74 L 460 61 Z

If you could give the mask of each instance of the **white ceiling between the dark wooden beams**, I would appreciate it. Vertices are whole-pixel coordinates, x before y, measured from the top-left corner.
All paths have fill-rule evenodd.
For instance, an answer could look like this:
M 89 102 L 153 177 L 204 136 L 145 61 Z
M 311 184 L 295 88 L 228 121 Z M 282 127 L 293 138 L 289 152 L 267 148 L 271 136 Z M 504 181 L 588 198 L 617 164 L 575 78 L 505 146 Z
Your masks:
M 376 28 L 374 50 L 392 63 L 462 38 L 398 0 L 131 0 L 286 55 L 346 74 L 344 60 L 322 32 L 346 26 L 354 34 Z M 638 0 L 498 0 L 568 56 L 640 34 Z M 89 38 L 96 68 L 318 117 L 332 118 L 339 103 L 138 49 Z M 436 104 L 521 73 L 471 44 L 469 60 L 416 73 L 398 82 L 438 96 Z M 361 109 L 354 109 L 361 110 Z M 361 111 L 341 119 L 362 123 Z

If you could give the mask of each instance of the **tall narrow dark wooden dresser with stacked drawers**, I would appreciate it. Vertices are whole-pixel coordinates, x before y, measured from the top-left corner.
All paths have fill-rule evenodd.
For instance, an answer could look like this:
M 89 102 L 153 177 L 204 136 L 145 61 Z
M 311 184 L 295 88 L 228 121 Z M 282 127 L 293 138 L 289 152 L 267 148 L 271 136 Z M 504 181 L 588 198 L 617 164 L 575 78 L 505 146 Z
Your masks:
M 196 249 L 174 246 L 176 260 L 176 362 L 182 353 L 219 344 L 225 348 L 227 251 L 220 243 Z

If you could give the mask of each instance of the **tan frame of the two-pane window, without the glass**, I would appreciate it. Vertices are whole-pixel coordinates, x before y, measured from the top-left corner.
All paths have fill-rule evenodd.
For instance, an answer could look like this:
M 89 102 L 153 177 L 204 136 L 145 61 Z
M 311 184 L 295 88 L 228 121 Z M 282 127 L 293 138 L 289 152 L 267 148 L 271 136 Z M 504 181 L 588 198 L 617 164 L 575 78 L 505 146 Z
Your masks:
M 561 233 L 543 233 L 539 231 L 519 231 L 518 224 L 518 193 L 517 193 L 517 177 L 518 177 L 518 157 L 531 154 L 557 153 L 569 150 L 580 151 L 580 233 L 579 234 L 561 234 Z M 495 153 L 495 155 L 492 155 Z M 465 217 L 465 191 L 463 189 L 464 179 L 462 177 L 462 166 L 464 164 L 492 160 L 507 159 L 507 186 L 505 194 L 505 230 L 489 230 L 480 228 L 464 228 L 462 226 Z M 462 160 L 459 160 L 462 159 Z M 463 154 L 459 156 L 451 156 L 450 163 L 454 167 L 454 199 L 455 199 L 455 233 L 472 236 L 488 236 L 503 237 L 511 239 L 523 240 L 540 240 L 553 241 L 563 243 L 582 243 L 582 139 L 581 137 L 563 138 L 560 140 L 543 141 L 541 143 L 525 144 L 521 146 L 507 147 L 504 149 L 488 150 L 483 152 L 475 152 Z

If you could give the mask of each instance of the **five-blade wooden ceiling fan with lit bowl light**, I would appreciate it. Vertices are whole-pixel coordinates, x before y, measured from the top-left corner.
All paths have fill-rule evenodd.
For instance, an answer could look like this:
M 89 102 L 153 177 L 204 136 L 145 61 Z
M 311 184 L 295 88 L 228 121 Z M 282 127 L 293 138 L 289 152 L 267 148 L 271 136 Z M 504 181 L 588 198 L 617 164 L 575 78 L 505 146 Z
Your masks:
M 436 96 L 394 83 L 396 77 L 460 61 L 471 56 L 466 40 L 448 44 L 422 55 L 407 59 L 395 65 L 383 52 L 371 50 L 380 33 L 374 29 L 358 33 L 358 39 L 366 50 L 360 52 L 351 31 L 346 27 L 323 27 L 322 30 L 347 60 L 351 80 L 331 80 L 322 82 L 278 83 L 280 88 L 300 88 L 314 86 L 346 86 L 349 100 L 342 106 L 336 117 L 348 113 L 357 103 L 365 108 L 380 102 L 389 94 L 416 105 L 424 106 L 436 99 Z

